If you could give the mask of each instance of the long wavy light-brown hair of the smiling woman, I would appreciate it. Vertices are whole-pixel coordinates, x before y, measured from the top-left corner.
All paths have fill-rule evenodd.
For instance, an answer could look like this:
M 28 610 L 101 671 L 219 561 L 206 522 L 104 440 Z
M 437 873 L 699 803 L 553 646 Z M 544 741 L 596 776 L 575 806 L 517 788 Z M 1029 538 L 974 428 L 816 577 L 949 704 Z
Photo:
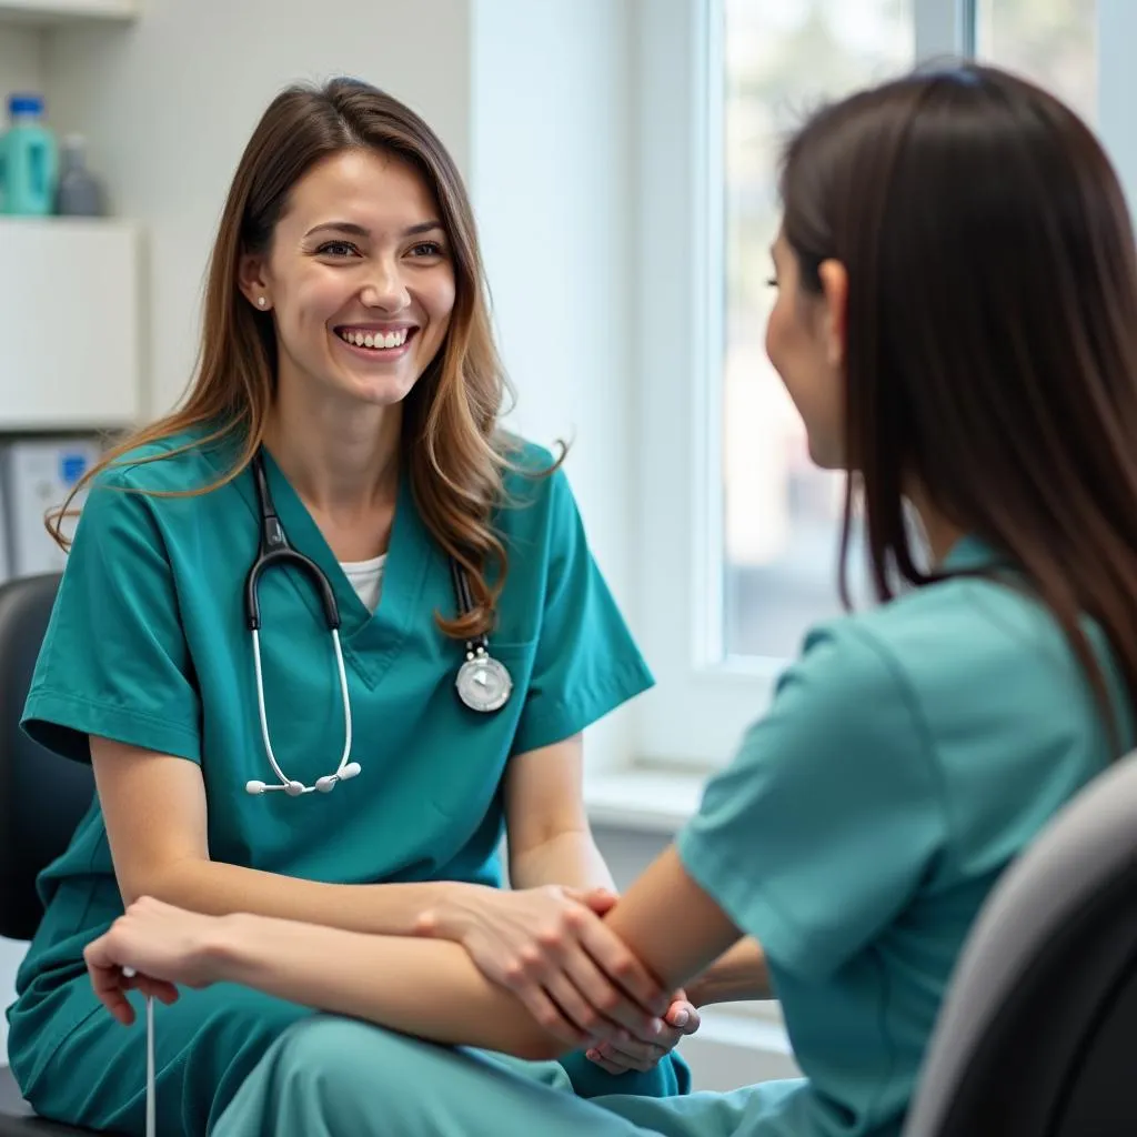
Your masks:
M 438 200 L 454 263 L 456 294 L 446 341 L 407 396 L 402 458 L 423 523 L 442 550 L 467 570 L 474 611 L 439 625 L 466 638 L 491 629 L 507 570 L 491 525 L 503 500 L 511 445 L 498 430 L 509 393 L 493 345 L 473 210 L 453 159 L 434 132 L 397 99 L 366 83 L 337 78 L 322 88 L 291 86 L 269 105 L 250 138 L 230 188 L 209 262 L 196 376 L 182 405 L 110 450 L 49 517 L 61 530 L 75 492 L 139 446 L 202 431 L 191 446 L 239 438 L 240 456 L 207 493 L 236 478 L 265 432 L 276 381 L 272 317 L 255 310 L 238 288 L 243 254 L 265 254 L 292 188 L 317 163 L 366 148 L 408 163 Z M 160 460 L 167 450 L 144 460 Z

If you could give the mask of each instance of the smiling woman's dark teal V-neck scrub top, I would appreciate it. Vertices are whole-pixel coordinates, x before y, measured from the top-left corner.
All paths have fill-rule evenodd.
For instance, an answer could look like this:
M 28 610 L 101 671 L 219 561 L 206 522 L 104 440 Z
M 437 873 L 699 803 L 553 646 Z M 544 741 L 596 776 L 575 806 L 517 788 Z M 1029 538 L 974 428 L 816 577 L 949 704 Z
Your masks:
M 435 613 L 456 611 L 446 556 L 401 480 L 380 604 L 360 601 L 292 487 L 266 455 L 291 543 L 327 575 L 339 603 L 360 774 L 331 794 L 251 796 L 276 781 L 257 713 L 244 582 L 257 555 L 251 472 L 204 496 L 232 446 L 190 435 L 139 450 L 93 485 L 75 533 L 24 715 L 44 746 L 90 761 L 99 735 L 201 767 L 216 861 L 339 883 L 464 880 L 498 885 L 501 780 L 512 755 L 572 737 L 652 678 L 586 541 L 565 474 L 532 473 L 523 445 L 496 514 L 508 557 L 490 650 L 509 669 L 504 708 L 468 709 L 455 690 L 464 644 Z M 273 568 L 260 584 L 260 649 L 271 738 L 284 773 L 332 773 L 343 707 L 332 640 L 308 579 Z M 165 806 L 155 802 L 155 811 Z M 23 993 L 60 980 L 122 912 L 102 814 L 93 802 L 67 852 L 40 879 L 47 914 L 20 969 Z M 68 966 L 72 965 L 72 966 Z M 74 1023 L 56 1022 L 64 1035 Z

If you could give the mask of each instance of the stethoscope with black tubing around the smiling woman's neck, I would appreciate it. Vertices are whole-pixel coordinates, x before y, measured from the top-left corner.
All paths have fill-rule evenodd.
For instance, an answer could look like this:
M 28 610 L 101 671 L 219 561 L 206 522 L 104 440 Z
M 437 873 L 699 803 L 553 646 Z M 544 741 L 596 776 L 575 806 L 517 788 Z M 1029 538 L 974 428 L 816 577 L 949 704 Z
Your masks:
M 360 772 L 359 763 L 349 761 L 351 756 L 351 697 L 348 694 L 348 677 L 343 666 L 343 648 L 340 644 L 340 608 L 335 603 L 335 592 L 331 582 L 319 565 L 289 543 L 284 526 L 276 515 L 272 493 L 268 490 L 268 478 L 265 474 L 264 458 L 259 450 L 254 455 L 250 466 L 257 491 L 257 503 L 260 508 L 260 547 L 244 582 L 244 619 L 252 636 L 252 662 L 257 678 L 257 713 L 260 717 L 260 737 L 264 739 L 265 754 L 268 756 L 279 785 L 268 786 L 263 781 L 249 781 L 246 782 L 244 788 L 249 794 L 283 790 L 289 797 L 300 797 L 302 794 L 314 791 L 329 794 L 338 782 L 349 781 L 351 778 L 358 777 Z M 465 568 L 453 556 L 449 561 L 450 579 L 458 609 L 463 615 L 467 615 L 474 607 L 470 580 Z M 265 572 L 280 565 L 291 565 L 299 568 L 315 588 L 321 607 L 324 609 L 327 630 L 331 632 L 332 647 L 335 652 L 335 667 L 340 679 L 340 697 L 343 702 L 343 753 L 340 755 L 340 763 L 335 767 L 335 772 L 317 778 L 315 786 L 305 786 L 304 782 L 296 781 L 284 773 L 273 753 L 273 744 L 268 735 L 264 674 L 260 665 L 262 622 L 258 589 Z M 481 714 L 499 711 L 508 702 L 513 691 L 513 679 L 505 664 L 490 655 L 487 636 L 478 636 L 466 641 L 465 661 L 458 669 L 455 687 L 462 702 L 472 711 Z

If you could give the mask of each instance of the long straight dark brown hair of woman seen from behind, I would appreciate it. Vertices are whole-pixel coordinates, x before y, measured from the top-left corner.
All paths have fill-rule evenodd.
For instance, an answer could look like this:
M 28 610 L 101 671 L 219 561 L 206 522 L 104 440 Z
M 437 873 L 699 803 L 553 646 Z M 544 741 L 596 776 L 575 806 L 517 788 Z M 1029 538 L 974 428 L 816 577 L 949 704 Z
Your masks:
M 1137 257 L 1102 147 L 1021 78 L 929 70 L 814 115 L 781 197 L 803 287 L 848 273 L 843 596 L 854 480 L 878 597 L 937 579 L 916 484 L 1021 570 L 1113 721 L 1079 620 L 1137 704 Z

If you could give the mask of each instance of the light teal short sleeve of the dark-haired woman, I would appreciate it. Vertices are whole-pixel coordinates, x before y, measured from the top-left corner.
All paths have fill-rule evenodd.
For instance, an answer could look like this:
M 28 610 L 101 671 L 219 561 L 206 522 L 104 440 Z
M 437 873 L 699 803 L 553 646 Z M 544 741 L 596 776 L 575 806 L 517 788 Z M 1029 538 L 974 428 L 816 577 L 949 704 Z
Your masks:
M 680 856 L 772 963 L 822 980 L 912 897 L 945 844 L 911 691 L 853 621 L 815 633 L 707 786 Z

